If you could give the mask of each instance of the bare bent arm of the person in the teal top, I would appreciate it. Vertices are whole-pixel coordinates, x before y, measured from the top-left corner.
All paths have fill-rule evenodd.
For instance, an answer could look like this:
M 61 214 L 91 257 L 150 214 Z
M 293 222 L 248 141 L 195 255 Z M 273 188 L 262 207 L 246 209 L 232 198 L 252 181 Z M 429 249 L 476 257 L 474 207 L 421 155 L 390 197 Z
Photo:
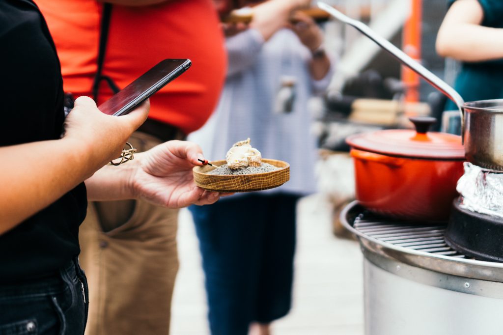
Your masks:
M 503 58 L 503 29 L 480 26 L 483 16 L 477 0 L 457 0 L 437 35 L 438 54 L 466 62 Z

